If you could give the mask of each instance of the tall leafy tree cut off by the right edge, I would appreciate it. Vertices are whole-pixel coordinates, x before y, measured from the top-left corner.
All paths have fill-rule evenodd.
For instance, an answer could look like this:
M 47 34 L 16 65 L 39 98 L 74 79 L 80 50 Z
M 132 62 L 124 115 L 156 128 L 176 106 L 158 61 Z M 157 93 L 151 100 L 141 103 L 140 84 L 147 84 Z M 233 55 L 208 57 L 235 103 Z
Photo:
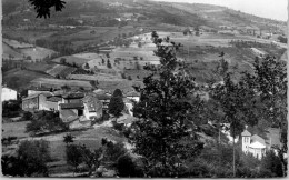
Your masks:
M 245 73 L 242 83 L 258 97 L 260 106 L 259 119 L 267 121 L 270 127 L 279 128 L 280 147 L 276 147 L 282 162 L 282 171 L 287 171 L 287 70 L 286 63 L 275 57 L 257 58 L 253 63 L 255 73 Z M 286 176 L 286 174 L 283 174 Z

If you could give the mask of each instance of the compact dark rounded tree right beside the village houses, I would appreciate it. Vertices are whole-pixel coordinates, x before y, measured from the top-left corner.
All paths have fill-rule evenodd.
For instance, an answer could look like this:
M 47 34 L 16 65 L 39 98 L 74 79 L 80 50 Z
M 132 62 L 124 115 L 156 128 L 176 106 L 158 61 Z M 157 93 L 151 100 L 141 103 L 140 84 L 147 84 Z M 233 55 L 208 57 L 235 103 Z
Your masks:
M 121 112 L 124 109 L 124 102 L 122 100 L 122 92 L 119 89 L 116 89 L 113 96 L 109 102 L 109 113 L 113 114 L 114 117 L 120 117 Z

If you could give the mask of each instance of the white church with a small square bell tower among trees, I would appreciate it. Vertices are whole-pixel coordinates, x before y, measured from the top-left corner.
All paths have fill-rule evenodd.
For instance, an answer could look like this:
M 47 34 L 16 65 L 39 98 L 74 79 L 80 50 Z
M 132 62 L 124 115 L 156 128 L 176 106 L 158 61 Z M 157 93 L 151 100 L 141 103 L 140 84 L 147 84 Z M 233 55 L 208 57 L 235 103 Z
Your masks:
M 245 153 L 251 153 L 255 158 L 261 159 L 266 152 L 266 142 L 265 140 L 247 130 L 241 133 L 242 137 L 242 151 Z

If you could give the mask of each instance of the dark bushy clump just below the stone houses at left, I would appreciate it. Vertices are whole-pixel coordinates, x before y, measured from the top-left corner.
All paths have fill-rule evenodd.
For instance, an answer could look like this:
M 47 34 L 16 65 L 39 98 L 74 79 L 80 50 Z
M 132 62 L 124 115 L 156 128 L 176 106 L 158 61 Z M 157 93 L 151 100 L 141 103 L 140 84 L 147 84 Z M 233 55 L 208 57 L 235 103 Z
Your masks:
M 33 119 L 27 124 L 27 132 L 32 132 L 33 134 L 46 133 L 46 132 L 57 132 L 67 130 L 68 127 L 59 118 L 59 112 L 53 111 L 39 111 L 36 112 Z

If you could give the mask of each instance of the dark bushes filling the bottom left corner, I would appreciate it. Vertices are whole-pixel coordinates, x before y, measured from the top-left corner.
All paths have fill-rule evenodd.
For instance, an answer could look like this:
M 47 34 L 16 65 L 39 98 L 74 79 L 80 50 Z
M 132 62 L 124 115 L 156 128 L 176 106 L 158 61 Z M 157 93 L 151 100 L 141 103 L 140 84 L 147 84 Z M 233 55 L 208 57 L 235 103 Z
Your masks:
M 22 141 L 16 157 L 2 157 L 2 172 L 13 177 L 48 177 L 46 163 L 50 159 L 47 141 Z

